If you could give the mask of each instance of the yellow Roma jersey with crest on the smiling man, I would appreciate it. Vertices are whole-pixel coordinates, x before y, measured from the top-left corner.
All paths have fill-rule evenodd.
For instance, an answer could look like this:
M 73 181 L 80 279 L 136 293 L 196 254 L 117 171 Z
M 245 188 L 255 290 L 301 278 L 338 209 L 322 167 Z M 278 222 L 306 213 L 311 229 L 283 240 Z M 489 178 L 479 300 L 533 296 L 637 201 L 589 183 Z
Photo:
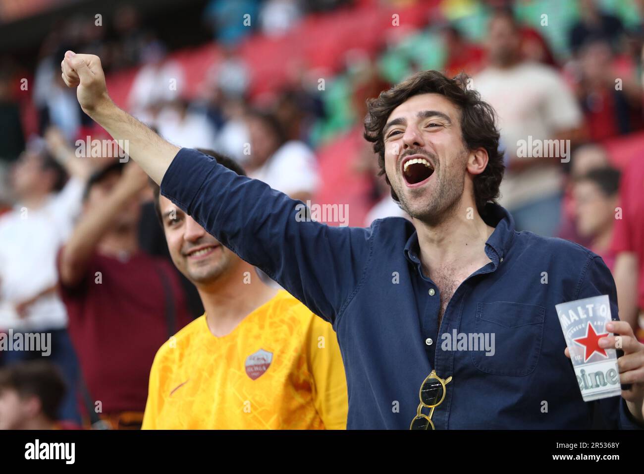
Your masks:
M 203 315 L 158 350 L 142 429 L 345 430 L 347 410 L 336 333 L 280 290 L 228 335 Z

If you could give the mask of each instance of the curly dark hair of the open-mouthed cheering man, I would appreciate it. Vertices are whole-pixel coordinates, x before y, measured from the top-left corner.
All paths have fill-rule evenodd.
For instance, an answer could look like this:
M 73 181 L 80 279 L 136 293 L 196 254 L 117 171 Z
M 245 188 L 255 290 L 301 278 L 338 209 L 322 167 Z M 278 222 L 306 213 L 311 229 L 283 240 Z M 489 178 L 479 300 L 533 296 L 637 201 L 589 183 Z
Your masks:
M 384 171 L 383 129 L 388 117 L 393 109 L 414 95 L 430 93 L 444 95 L 460 109 L 460 128 L 466 148 L 468 150 L 484 148 L 488 152 L 488 166 L 484 172 L 474 178 L 477 210 L 482 214 L 486 202 L 496 202 L 505 165 L 503 153 L 499 150 L 500 135 L 495 111 L 490 104 L 481 100 L 478 92 L 468 88 L 468 79 L 464 74 L 449 79 L 438 71 L 421 71 L 391 89 L 381 92 L 377 98 L 367 101 L 365 139 L 374 144 L 374 152 L 378 154 L 380 166 L 378 175 L 384 174 L 387 184 L 391 186 Z M 392 197 L 394 201 L 399 202 L 393 188 Z

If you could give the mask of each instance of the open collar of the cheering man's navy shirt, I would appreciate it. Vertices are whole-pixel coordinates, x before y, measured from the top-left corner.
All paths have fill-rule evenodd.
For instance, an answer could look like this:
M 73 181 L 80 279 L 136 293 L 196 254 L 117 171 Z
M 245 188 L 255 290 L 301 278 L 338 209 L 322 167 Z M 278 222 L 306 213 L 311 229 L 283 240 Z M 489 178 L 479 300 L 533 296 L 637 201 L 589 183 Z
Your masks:
M 497 266 L 500 261 L 503 261 L 512 244 L 515 235 L 515 220 L 505 208 L 492 202 L 486 204 L 483 220 L 495 228 L 486 242 L 485 253 Z M 418 234 L 414 230 L 404 246 L 404 255 L 408 261 L 419 264 L 421 262 L 419 250 Z

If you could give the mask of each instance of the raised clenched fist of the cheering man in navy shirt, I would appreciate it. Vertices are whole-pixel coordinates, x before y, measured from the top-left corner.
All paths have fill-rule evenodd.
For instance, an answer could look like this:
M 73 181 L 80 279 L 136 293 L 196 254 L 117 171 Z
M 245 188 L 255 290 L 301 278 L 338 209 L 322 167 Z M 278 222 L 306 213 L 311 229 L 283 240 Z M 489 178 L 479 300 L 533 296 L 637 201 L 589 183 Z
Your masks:
M 111 104 L 100 59 L 93 54 L 68 51 L 61 62 L 62 80 L 75 87 L 83 112 L 92 117 L 102 106 Z

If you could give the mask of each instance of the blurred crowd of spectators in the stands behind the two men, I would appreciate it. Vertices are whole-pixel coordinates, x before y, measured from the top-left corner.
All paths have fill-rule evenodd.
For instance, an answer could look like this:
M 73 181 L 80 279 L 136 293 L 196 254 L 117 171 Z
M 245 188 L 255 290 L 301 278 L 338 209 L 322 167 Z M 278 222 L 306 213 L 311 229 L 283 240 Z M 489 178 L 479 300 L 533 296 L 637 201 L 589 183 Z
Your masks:
M 55 349 L 50 357 L 0 351 L 0 428 L 42 428 L 56 420 L 137 426 L 156 350 L 203 311 L 169 261 L 143 173 L 104 148 L 79 153 L 77 141 L 110 137 L 64 87 L 59 63 L 66 50 L 99 55 L 108 84 L 110 75 L 135 71 L 121 106 L 169 141 L 229 155 L 251 177 L 294 199 L 316 202 L 329 190 L 345 192 L 334 181 L 366 183 L 348 193 L 359 193 L 356 202 L 365 209 L 351 224 L 367 226 L 403 212 L 361 138 L 366 99 L 417 70 L 467 74 L 498 113 L 506 153 L 500 204 L 518 230 L 569 239 L 601 255 L 614 273 L 621 319 L 638 328 L 644 1 L 625 2 L 629 22 L 615 2 L 571 1 L 565 25 L 554 11 L 545 24 L 538 14 L 524 21 L 526 11 L 552 11 L 530 10 L 538 1 L 431 2 L 421 28 L 389 35 L 376 55 L 345 51 L 336 84 L 345 84 L 346 94 L 339 100 L 328 99 L 331 92 L 304 65 L 284 88 L 251 94 L 252 65 L 238 54 L 245 37 L 279 37 L 307 15 L 363 3 L 394 11 L 415 2 L 212 0 L 202 21 L 222 57 L 200 78 L 186 77 L 133 5 L 120 7 L 108 28 L 95 28 L 93 17 L 61 21 L 44 39 L 33 71 L 3 59 L 0 330 L 51 333 Z M 245 14 L 258 17 L 252 28 L 232 20 Z M 556 47 L 548 28 L 564 33 Z M 28 106 L 22 77 L 32 78 Z M 196 94 L 188 81 L 198 82 Z M 549 140 L 562 141 L 556 157 L 519 152 L 522 141 Z M 632 156 L 611 152 L 620 140 L 638 143 Z M 333 143 L 355 146 L 336 148 L 337 168 L 327 164 L 323 175 L 319 150 Z M 88 273 L 97 265 L 100 272 Z M 100 282 L 100 291 L 90 282 Z M 100 417 L 93 400 L 102 404 Z

